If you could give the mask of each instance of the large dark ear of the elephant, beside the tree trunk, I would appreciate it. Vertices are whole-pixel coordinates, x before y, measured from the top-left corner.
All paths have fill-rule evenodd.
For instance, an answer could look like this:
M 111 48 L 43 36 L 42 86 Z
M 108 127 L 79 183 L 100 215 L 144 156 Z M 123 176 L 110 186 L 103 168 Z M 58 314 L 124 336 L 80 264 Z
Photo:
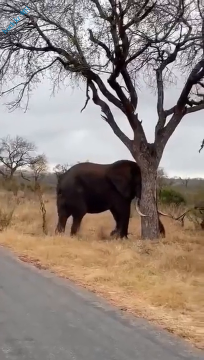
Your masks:
M 107 179 L 124 197 L 131 195 L 131 168 L 128 163 L 113 163 L 106 172 Z

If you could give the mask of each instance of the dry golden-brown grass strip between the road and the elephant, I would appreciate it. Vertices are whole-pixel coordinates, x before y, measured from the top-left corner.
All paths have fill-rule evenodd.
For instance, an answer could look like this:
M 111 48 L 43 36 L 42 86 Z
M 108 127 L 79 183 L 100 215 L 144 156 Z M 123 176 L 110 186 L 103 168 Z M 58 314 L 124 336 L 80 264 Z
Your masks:
M 12 207 L 7 196 L 0 193 L 1 207 Z M 56 237 L 55 198 L 45 197 L 48 235 L 42 236 L 39 203 L 30 195 L 16 206 L 0 244 L 204 348 L 203 232 L 164 218 L 166 238 L 141 241 L 133 216 L 129 240 L 110 240 L 114 222 L 105 212 L 86 215 L 77 237 L 69 237 L 70 224 L 65 236 Z

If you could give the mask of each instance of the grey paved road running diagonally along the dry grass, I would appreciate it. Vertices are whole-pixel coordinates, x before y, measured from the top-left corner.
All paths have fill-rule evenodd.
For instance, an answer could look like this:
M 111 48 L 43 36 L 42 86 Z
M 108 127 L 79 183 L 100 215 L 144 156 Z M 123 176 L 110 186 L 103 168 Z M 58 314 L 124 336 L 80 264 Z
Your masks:
M 0 360 L 203 360 L 191 349 L 0 247 Z

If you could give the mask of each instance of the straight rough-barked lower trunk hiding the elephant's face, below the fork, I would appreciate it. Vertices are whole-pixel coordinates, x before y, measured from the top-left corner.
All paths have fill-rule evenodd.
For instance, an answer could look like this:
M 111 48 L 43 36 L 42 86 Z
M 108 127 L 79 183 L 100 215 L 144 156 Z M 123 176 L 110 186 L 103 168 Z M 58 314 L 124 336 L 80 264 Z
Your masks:
M 156 203 L 156 168 L 154 165 L 141 168 L 141 210 L 148 215 L 141 217 L 141 237 L 154 239 L 159 237 L 158 212 Z

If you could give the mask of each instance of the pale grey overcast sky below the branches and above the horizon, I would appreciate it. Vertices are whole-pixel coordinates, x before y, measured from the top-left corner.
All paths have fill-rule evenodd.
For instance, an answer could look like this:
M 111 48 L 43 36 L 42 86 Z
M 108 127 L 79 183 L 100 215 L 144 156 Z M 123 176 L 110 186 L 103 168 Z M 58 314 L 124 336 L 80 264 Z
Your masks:
M 175 104 L 181 85 L 168 90 L 165 107 Z M 18 134 L 33 140 L 38 151 L 47 155 L 51 166 L 86 159 L 99 163 L 132 159 L 127 148 L 101 119 L 98 106 L 90 100 L 80 113 L 85 100 L 84 91 L 66 87 L 55 97 L 50 97 L 50 93 L 50 83 L 41 83 L 33 92 L 26 113 L 22 110 L 9 113 L 2 105 L 3 99 L 0 102 L 0 137 Z M 150 90 L 138 92 L 137 112 L 150 142 L 153 141 L 156 122 L 155 104 Z M 117 109 L 114 114 L 122 130 L 131 137 L 131 129 L 123 114 Z M 167 143 L 160 166 L 169 176 L 204 177 L 204 150 L 198 153 L 203 137 L 204 110 L 186 115 Z

